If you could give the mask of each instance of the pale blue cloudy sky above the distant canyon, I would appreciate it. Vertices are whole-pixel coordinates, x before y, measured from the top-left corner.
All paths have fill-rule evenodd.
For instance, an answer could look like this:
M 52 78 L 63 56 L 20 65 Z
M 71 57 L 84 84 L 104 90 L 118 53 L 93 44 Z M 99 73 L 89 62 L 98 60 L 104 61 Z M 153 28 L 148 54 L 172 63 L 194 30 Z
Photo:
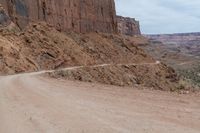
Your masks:
M 143 33 L 200 32 L 200 0 L 115 0 L 117 14 L 140 21 Z

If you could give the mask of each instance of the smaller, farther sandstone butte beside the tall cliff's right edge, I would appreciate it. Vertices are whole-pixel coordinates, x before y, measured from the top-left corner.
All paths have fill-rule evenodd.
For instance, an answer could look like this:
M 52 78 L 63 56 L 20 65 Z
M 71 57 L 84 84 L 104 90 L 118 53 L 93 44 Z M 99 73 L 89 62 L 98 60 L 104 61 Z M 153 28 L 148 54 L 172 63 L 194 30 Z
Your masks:
M 141 35 L 139 21 L 134 18 L 117 16 L 118 32 L 121 34 L 133 36 Z

